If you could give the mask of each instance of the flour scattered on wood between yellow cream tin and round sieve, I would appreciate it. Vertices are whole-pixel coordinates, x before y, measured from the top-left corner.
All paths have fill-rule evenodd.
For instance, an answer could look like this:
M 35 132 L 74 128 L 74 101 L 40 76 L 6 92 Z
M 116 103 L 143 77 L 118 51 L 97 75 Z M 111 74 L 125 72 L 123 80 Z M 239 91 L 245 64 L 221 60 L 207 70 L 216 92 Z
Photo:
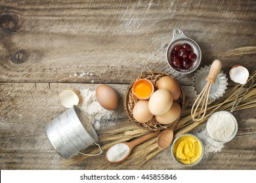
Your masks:
M 194 130 L 190 131 L 190 133 L 196 135 L 201 139 L 205 148 L 205 158 L 207 158 L 209 153 L 221 152 L 223 148 L 223 144 L 219 144 L 219 147 L 211 146 L 208 142 L 205 141 L 205 136 L 207 135 L 206 124 L 199 125 Z

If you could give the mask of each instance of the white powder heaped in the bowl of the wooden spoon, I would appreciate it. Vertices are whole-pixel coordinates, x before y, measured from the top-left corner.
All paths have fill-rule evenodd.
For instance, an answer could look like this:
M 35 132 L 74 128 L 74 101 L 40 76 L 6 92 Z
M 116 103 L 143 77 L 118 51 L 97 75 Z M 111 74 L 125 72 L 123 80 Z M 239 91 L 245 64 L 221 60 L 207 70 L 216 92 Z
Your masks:
M 127 146 L 127 144 L 119 143 L 112 146 L 108 150 L 106 154 L 106 158 L 108 159 L 108 161 L 111 161 L 111 162 L 120 161 L 121 159 L 125 158 L 125 156 L 127 156 L 129 151 L 130 151 L 130 148 L 129 146 Z

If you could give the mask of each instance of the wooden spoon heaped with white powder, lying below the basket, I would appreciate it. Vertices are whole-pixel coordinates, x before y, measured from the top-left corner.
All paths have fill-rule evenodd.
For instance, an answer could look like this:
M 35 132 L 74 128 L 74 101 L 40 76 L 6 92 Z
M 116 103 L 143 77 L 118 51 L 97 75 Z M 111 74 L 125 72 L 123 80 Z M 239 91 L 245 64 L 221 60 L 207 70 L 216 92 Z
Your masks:
M 106 152 L 106 155 L 105 155 L 106 161 L 108 161 L 109 163 L 119 163 L 119 162 L 125 160 L 125 159 L 131 154 L 131 150 L 133 150 L 133 148 L 134 148 L 135 146 L 137 146 L 138 144 L 140 144 L 140 143 L 142 143 L 142 142 L 144 142 L 144 141 L 146 141 L 146 140 L 148 140 L 148 139 L 154 137 L 155 135 L 158 135 L 159 133 L 160 133 L 160 130 L 157 130 L 157 131 L 154 131 L 153 133 L 148 133 L 148 134 L 146 134 L 146 135 L 143 135 L 143 136 L 140 137 L 139 139 L 136 139 L 136 140 L 131 141 L 131 142 L 120 142 L 120 143 L 117 143 L 117 144 L 126 144 L 127 146 L 129 146 L 129 152 L 127 153 L 127 155 L 126 155 L 123 159 L 121 159 L 121 160 L 119 160 L 119 161 L 110 161 L 110 160 L 107 158 L 107 154 L 108 154 L 110 148 L 112 148 L 113 146 L 116 146 L 116 145 L 117 145 L 117 144 L 114 144 L 114 145 L 111 146 L 111 147 L 107 150 L 107 152 Z

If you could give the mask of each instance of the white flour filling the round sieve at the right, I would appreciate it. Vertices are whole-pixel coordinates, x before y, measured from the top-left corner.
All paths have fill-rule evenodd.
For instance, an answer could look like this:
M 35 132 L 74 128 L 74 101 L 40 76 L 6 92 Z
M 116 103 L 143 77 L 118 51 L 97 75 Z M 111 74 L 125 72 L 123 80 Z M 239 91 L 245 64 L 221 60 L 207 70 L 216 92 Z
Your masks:
M 211 138 L 216 141 L 226 141 L 236 129 L 234 118 L 228 112 L 213 114 L 207 122 L 207 130 Z

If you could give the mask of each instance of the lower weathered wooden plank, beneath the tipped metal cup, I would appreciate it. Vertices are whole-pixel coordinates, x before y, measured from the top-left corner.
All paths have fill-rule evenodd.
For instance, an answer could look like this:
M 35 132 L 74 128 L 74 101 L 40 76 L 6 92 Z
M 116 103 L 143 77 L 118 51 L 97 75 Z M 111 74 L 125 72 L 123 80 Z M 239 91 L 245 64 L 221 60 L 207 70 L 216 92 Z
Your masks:
M 93 92 L 97 84 L 49 84 L 49 83 L 1 83 L 0 84 L 0 169 L 100 169 L 108 165 L 104 154 L 83 161 L 67 161 L 56 154 L 45 135 L 45 125 L 65 110 L 58 95 L 62 90 L 74 87 L 83 95 L 83 101 L 95 100 Z M 111 85 L 122 97 L 127 85 Z M 194 100 L 190 86 L 185 86 L 188 99 Z M 91 91 L 91 92 L 89 92 Z M 80 104 L 92 110 L 95 105 Z M 89 110 L 87 110 L 89 112 Z M 100 129 L 129 124 L 122 104 L 114 112 L 96 110 L 91 120 L 100 123 Z M 238 119 L 238 135 L 221 150 L 210 152 L 199 165 L 184 168 L 171 159 L 169 149 L 148 161 L 141 169 L 255 169 L 255 111 L 234 112 Z M 231 161 L 232 159 L 232 161 Z M 243 165 L 243 166 L 241 166 Z M 135 169 L 127 165 L 123 169 Z M 113 169 L 114 165 L 108 165 Z

